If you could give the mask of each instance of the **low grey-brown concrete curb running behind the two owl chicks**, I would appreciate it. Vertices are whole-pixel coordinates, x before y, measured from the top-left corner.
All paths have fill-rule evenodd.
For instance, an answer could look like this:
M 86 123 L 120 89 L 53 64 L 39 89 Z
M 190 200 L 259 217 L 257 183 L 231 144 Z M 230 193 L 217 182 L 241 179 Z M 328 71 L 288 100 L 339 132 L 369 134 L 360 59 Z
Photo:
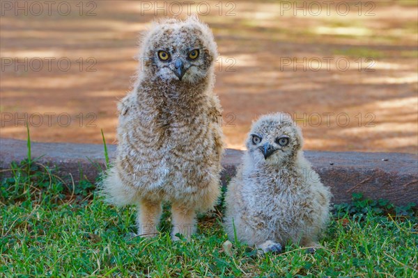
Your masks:
M 108 145 L 112 161 L 115 145 Z M 77 182 L 81 177 L 94 181 L 104 169 L 102 145 L 32 142 L 32 158 L 38 163 L 56 165 L 60 177 L 70 174 Z M 0 138 L 0 169 L 8 169 L 12 161 L 26 158 L 26 141 Z M 227 149 L 222 161 L 222 183 L 235 174 L 242 151 Z M 305 152 L 305 156 L 321 181 L 330 186 L 333 202 L 349 202 L 352 193 L 364 193 L 371 199 L 388 199 L 396 205 L 418 203 L 418 156 L 398 153 Z M 10 172 L 1 172 L 7 177 Z M 307 174 L 309 178 L 309 173 Z

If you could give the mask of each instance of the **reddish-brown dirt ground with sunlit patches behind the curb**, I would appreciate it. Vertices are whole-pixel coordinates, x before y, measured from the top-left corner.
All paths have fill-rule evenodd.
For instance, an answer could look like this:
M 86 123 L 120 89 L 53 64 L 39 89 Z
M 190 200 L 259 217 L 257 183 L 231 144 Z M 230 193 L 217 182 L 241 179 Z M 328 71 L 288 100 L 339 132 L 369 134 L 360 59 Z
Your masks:
M 284 111 L 304 149 L 417 153 L 415 0 L 35 2 L 1 1 L 1 137 L 25 139 L 27 120 L 34 141 L 115 142 L 139 33 L 181 9 L 215 34 L 228 147 Z

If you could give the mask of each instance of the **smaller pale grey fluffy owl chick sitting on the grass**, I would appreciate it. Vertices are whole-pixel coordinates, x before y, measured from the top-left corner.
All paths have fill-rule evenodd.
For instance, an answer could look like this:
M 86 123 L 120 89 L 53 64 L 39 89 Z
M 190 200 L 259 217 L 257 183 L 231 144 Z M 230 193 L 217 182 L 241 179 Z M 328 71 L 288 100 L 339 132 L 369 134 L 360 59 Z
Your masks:
M 226 193 L 229 238 L 262 252 L 281 252 L 288 241 L 318 247 L 329 219 L 330 190 L 302 152 L 302 133 L 291 116 L 264 115 L 251 126 L 247 152 Z

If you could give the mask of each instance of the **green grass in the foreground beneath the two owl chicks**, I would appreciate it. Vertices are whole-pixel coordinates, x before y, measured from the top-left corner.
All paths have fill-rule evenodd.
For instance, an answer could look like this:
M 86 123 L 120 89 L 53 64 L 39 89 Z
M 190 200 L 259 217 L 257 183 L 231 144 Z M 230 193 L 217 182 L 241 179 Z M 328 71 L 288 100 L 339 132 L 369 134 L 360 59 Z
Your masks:
M 201 216 L 188 242 L 171 241 L 167 206 L 160 236 L 132 238 L 133 207 L 109 206 L 92 183 L 67 184 L 28 162 L 13 163 L 13 177 L 1 181 L 0 277 L 418 277 L 412 204 L 395 211 L 355 195 L 337 207 L 323 249 L 259 256 L 234 240 L 231 252 L 222 249 L 222 205 Z

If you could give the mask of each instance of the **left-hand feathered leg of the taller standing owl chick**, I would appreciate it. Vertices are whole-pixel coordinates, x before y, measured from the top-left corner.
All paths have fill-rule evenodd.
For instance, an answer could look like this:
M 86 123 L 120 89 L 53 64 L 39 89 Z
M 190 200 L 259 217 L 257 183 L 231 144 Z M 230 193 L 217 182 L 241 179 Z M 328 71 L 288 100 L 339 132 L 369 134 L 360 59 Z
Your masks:
M 162 213 L 161 202 L 141 200 L 138 204 L 137 227 L 138 235 L 152 238 L 157 235 L 157 226 Z

